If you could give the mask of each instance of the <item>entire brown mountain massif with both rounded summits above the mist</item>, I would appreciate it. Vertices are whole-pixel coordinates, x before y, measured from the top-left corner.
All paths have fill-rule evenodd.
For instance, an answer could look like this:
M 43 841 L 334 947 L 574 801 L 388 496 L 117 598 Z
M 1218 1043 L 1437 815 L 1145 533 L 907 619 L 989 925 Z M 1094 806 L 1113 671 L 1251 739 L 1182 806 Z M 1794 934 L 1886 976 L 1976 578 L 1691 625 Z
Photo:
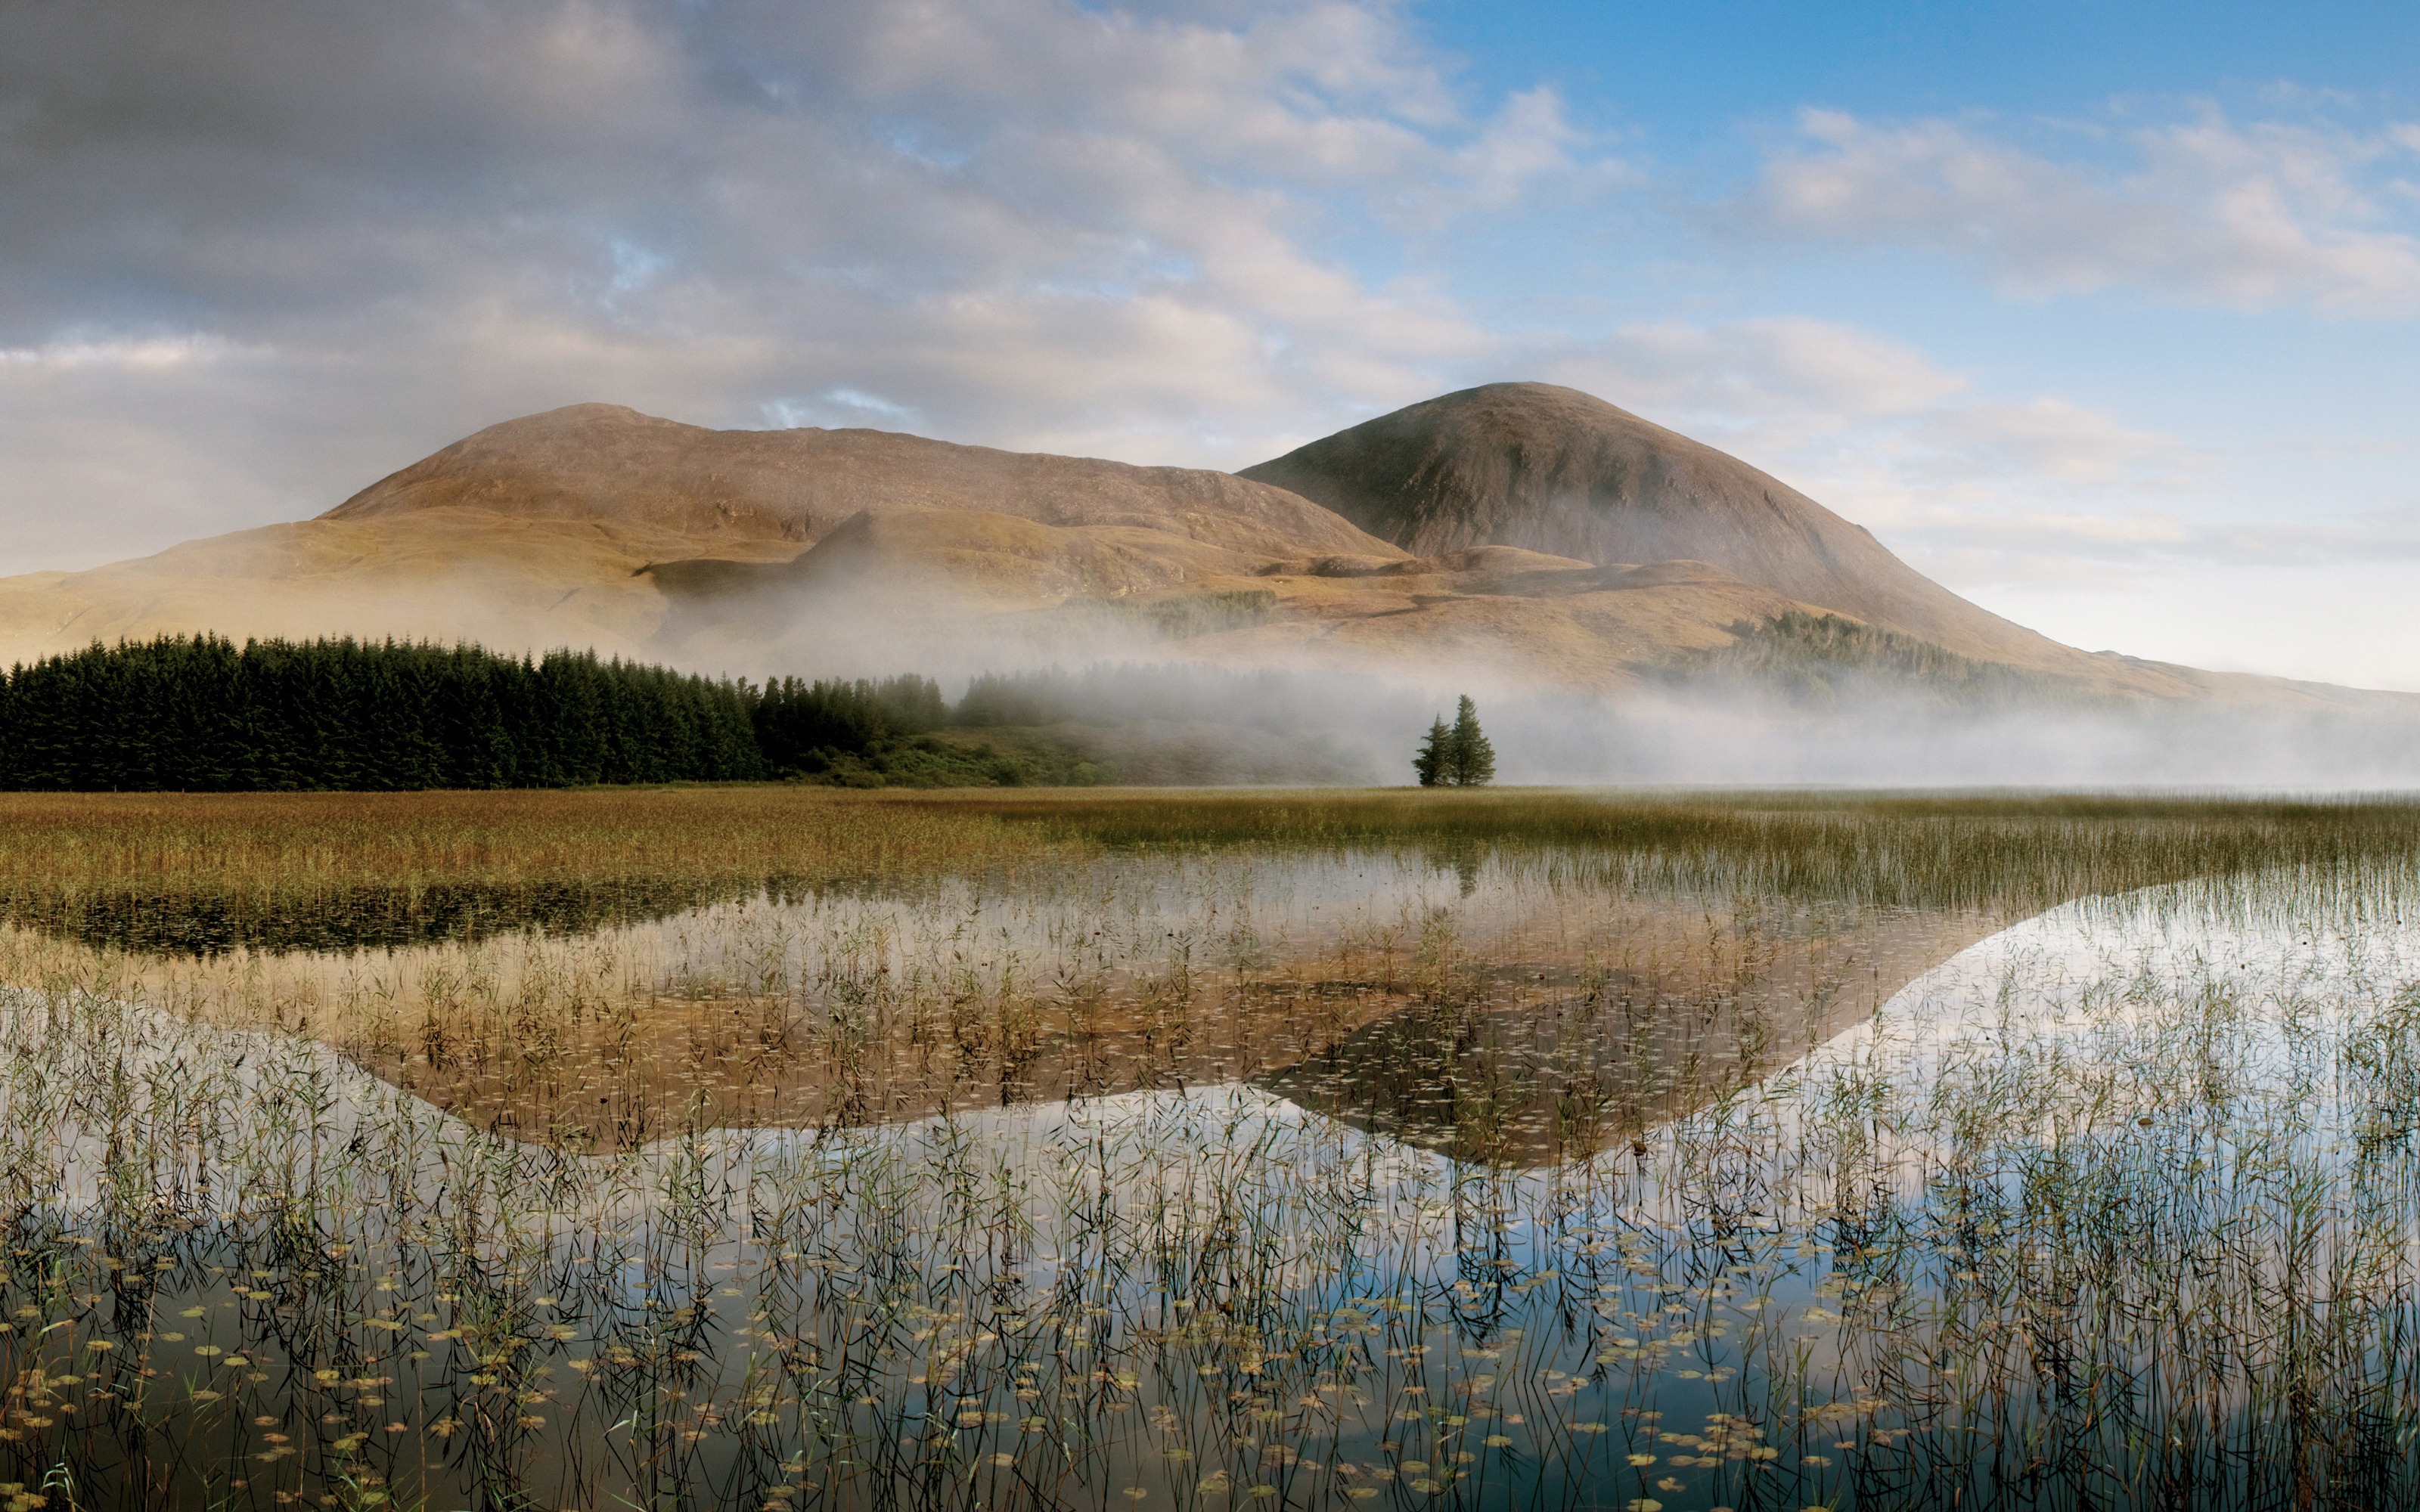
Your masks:
M 2389 699 L 2062 646 L 1738 457 L 1527 382 L 1241 474 L 576 404 L 312 520 L 0 581 L 0 658 L 194 629 L 569 644 L 748 675 L 1186 658 L 1588 694 Z

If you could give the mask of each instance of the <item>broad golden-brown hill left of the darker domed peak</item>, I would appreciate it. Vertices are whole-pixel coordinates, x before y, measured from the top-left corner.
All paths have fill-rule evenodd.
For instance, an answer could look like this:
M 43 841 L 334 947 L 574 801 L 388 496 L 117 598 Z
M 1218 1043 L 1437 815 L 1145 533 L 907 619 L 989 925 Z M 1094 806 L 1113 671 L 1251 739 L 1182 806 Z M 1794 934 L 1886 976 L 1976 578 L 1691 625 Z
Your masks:
M 791 561 L 828 537 L 825 578 L 888 573 L 893 602 L 876 619 L 915 598 L 934 631 L 958 619 L 929 619 L 934 598 L 1038 610 L 1070 593 L 1249 573 L 1297 552 L 1401 556 L 1331 510 L 1225 472 L 883 431 L 709 431 L 576 404 L 489 426 L 312 520 L 0 578 L 0 660 L 194 629 L 678 656 L 699 619 L 699 583 Z M 903 578 L 946 595 L 903 593 Z M 828 593 L 835 610 L 842 588 Z M 854 639 L 871 639 L 862 651 L 878 658 L 883 639 L 857 619 Z M 932 639 L 912 651 L 934 653 Z M 765 670 L 757 658 L 731 665 Z

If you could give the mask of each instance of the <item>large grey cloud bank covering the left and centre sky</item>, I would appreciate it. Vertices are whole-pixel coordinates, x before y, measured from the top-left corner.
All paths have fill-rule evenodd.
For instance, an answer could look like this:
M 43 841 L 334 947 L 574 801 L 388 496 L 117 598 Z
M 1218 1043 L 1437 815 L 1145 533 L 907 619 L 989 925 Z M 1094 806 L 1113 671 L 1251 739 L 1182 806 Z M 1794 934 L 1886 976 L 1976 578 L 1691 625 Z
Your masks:
M 165 474 L 92 561 L 578 399 L 1241 464 L 1493 351 L 1353 247 L 1621 169 L 1387 0 L 29 0 L 0 179 L 0 373 L 87 382 L 0 506 Z

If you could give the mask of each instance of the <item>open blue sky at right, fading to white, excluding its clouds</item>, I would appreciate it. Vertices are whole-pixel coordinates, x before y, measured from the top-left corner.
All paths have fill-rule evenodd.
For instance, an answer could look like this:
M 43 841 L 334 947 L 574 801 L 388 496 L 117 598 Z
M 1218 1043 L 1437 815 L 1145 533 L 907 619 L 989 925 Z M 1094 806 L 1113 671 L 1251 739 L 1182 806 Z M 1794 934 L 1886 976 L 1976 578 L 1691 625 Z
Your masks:
M 1769 220 L 1706 215 L 1805 155 L 1810 111 L 1856 121 L 1851 140 L 1868 150 L 1892 131 L 1955 131 L 1970 148 L 2098 177 L 2110 210 L 2178 194 L 2149 169 L 2144 135 L 2292 135 L 2277 152 L 2316 152 L 2374 196 L 2306 225 L 2367 232 L 2408 256 L 2420 155 L 2405 138 L 2364 160 L 2362 138 L 2391 140 L 2420 116 L 2420 10 L 1430 5 L 1418 17 L 1467 60 L 1469 87 L 1556 90 L 1578 128 L 1641 165 L 1658 201 L 1629 218 L 1573 215 L 1566 237 L 1471 259 L 1454 276 L 1462 298 L 1486 300 L 1491 285 L 1561 290 L 1573 305 L 1592 295 L 1609 324 L 1820 319 L 1924 353 L 1980 402 L 2050 399 L 2163 438 L 2171 457 L 2151 448 L 2108 481 L 2013 467 L 2001 508 L 1926 515 L 1909 508 L 1921 501 L 1888 503 L 1854 481 L 1856 426 L 1834 433 L 1844 445 L 1830 464 L 1820 448 L 1757 455 L 1738 435 L 1926 571 L 2064 639 L 2420 685 L 2403 612 L 2420 588 L 2408 569 L 2420 503 L 2405 435 L 2420 397 L 2408 285 L 2347 300 L 2323 273 L 2311 283 L 2316 269 L 2277 271 L 2268 288 L 2229 288 L 2224 271 L 2195 285 L 2173 266 L 2130 276 L 2122 247 L 2086 247 L 2084 261 L 2103 266 L 2059 281 L 2028 276 L 2021 256 L 1960 252 L 1938 227 L 1776 240 Z M 2268 165 L 2246 152 L 2234 184 L 2219 174 L 2202 194 L 2258 184 L 2277 152 Z M 1992 201 L 1963 208 L 1989 215 Z M 2033 230 L 2018 210 L 1992 227 L 1996 244 Z M 1602 235 L 1607 223 L 1619 235 Z M 1515 290 L 1498 278 L 1505 261 L 1522 269 Z M 1704 435 L 1738 416 L 1694 419 L 1684 428 Z M 1926 481 L 1941 494 L 1938 474 Z M 2028 530 L 2026 513 L 2064 520 Z

